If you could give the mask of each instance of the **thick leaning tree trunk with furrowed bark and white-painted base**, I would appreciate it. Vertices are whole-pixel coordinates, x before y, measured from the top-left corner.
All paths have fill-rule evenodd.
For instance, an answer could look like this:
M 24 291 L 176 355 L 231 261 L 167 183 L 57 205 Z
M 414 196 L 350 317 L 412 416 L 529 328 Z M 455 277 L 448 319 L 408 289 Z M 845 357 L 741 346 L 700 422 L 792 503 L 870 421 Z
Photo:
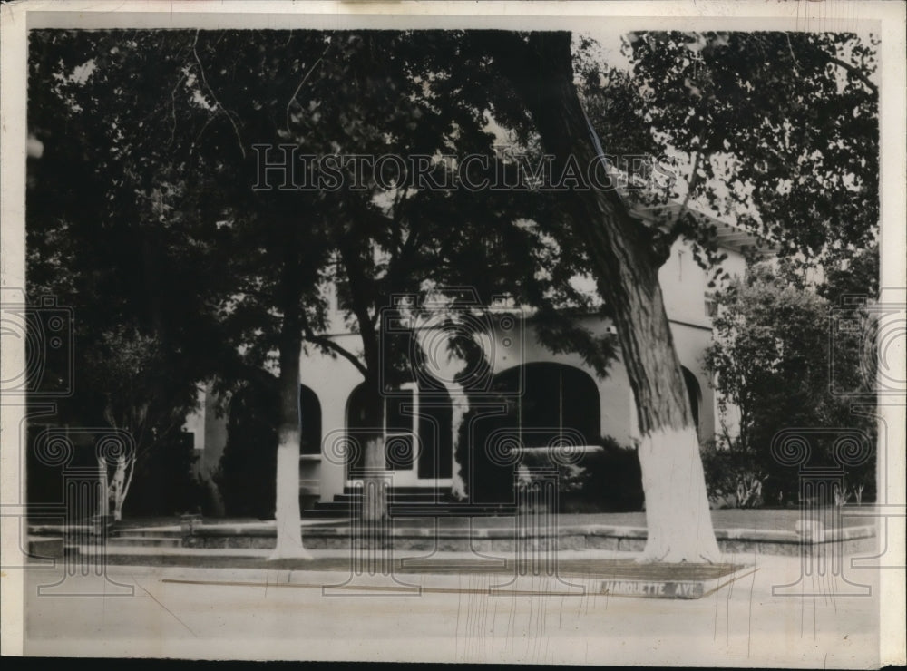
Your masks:
M 555 175 L 571 156 L 585 170 L 602 151 L 573 83 L 571 34 L 517 40 L 498 41 L 495 62 L 526 102 L 545 151 L 556 157 Z M 649 528 L 643 559 L 714 561 L 720 553 L 696 427 L 658 285 L 662 260 L 649 230 L 630 219 L 613 190 L 574 190 L 567 200 L 600 294 L 613 310 L 636 400 Z

